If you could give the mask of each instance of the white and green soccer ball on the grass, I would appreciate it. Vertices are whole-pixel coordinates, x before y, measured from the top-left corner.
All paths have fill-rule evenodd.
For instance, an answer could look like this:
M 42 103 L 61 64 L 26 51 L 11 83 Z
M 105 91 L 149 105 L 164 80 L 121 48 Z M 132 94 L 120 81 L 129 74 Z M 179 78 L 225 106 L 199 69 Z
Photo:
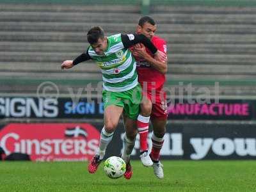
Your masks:
M 111 179 L 118 179 L 124 175 L 126 170 L 126 164 L 120 157 L 112 156 L 106 159 L 103 164 L 104 172 Z

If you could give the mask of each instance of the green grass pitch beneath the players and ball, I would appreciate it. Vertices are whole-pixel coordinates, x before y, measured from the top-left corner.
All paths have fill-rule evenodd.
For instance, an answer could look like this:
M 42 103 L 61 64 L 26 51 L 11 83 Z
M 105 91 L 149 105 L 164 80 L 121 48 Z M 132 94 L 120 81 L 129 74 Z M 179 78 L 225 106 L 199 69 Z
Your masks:
M 87 172 L 87 163 L 1 162 L 0 191 L 256 191 L 256 161 L 163 161 L 164 179 L 132 161 L 131 180 Z

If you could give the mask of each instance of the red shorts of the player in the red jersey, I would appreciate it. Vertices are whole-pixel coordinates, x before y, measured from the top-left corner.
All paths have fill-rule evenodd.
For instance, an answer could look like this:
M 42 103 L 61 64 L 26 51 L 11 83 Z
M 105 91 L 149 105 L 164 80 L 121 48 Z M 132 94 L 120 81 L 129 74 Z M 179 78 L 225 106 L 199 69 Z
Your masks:
M 164 91 L 156 91 L 156 93 L 147 92 L 143 93 L 152 102 L 152 111 L 150 118 L 166 120 L 168 117 L 166 93 Z

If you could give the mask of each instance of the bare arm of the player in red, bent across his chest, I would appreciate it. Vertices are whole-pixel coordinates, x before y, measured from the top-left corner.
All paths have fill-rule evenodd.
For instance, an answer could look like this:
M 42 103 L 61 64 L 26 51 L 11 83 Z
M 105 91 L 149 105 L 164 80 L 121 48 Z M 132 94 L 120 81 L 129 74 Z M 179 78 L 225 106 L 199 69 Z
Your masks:
M 162 47 L 164 45 L 165 44 L 163 44 Z M 159 50 L 162 51 L 161 49 L 159 49 Z M 165 50 L 163 50 L 163 51 L 166 52 Z M 166 60 L 157 60 L 156 58 L 152 58 L 152 56 L 150 56 L 150 54 L 147 53 L 145 47 L 143 45 L 141 46 L 140 44 L 136 45 L 132 54 L 134 54 L 136 56 L 140 56 L 144 60 L 148 61 L 148 63 L 150 63 L 150 65 L 152 67 L 156 68 L 156 70 L 158 70 L 162 74 L 166 74 L 167 69 L 168 69 L 167 58 L 166 58 Z

